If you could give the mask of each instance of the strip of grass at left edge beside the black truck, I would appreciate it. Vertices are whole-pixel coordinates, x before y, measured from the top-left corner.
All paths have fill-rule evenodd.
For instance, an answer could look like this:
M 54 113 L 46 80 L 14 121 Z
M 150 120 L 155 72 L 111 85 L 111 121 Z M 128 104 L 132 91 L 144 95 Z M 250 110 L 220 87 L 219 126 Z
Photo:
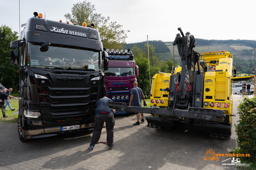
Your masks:
M 11 94 L 11 96 L 14 96 L 14 94 Z M 15 95 L 16 96 L 16 95 Z M 9 106 L 7 106 L 5 114 L 6 116 L 9 117 L 3 117 L 2 114 L 0 116 L 0 122 L 6 122 L 6 123 L 18 123 L 18 114 L 12 114 L 16 111 L 18 111 L 19 109 L 19 98 L 17 100 L 11 98 L 11 106 L 13 109 L 15 109 L 14 111 L 11 111 L 11 109 L 9 108 Z M 2 110 L 1 110 L 2 113 Z

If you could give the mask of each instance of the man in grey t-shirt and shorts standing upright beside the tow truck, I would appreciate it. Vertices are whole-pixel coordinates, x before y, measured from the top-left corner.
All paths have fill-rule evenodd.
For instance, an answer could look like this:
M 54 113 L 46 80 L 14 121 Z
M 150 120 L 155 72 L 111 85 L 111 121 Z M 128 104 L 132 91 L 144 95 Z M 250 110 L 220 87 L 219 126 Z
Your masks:
M 144 102 L 146 102 L 144 98 L 144 94 L 141 90 L 141 88 L 138 87 L 138 82 L 133 83 L 134 88 L 131 90 L 131 98 L 130 98 L 130 106 L 139 106 L 141 107 L 141 98 Z M 133 123 L 133 125 L 140 125 L 140 115 L 141 115 L 141 121 L 144 122 L 144 115 L 143 113 L 135 113 L 137 116 L 137 122 Z

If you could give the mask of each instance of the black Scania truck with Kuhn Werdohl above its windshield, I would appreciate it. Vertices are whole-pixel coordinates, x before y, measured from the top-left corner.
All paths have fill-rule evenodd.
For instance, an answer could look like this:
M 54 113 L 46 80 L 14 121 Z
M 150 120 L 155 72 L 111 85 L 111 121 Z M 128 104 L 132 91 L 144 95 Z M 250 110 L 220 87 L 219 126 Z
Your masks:
M 21 39 L 10 45 L 11 62 L 20 66 L 20 140 L 92 129 L 108 69 L 98 30 L 36 12 L 22 26 Z

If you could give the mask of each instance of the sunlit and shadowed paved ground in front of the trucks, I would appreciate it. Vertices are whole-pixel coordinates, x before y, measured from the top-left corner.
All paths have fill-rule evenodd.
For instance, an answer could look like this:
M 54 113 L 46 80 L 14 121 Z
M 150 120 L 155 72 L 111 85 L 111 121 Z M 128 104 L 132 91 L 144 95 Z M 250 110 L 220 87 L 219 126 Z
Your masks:
M 233 114 L 236 117 L 232 124 L 239 120 L 240 97 L 234 94 Z M 230 157 L 219 157 L 218 161 L 203 159 L 209 148 L 225 154 L 237 147 L 234 127 L 231 139 L 226 140 L 191 129 L 152 129 L 146 127 L 146 121 L 132 125 L 136 122 L 134 114 L 117 115 L 115 120 L 113 150 L 103 143 L 89 150 L 92 132 L 23 143 L 18 137 L 16 123 L 0 123 L 0 170 L 236 170 L 235 165 L 223 165 L 231 162 L 227 160 Z M 105 129 L 100 138 L 100 142 L 104 141 Z

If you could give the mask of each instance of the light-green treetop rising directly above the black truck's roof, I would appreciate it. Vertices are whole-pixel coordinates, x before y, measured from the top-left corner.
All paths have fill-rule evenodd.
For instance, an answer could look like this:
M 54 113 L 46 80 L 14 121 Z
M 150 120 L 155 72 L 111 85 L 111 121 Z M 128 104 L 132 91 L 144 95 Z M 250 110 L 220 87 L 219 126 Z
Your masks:
M 97 28 L 102 20 L 101 14 L 94 13 L 96 9 L 95 5 L 92 5 L 92 2 L 87 2 L 86 0 L 83 2 L 77 2 L 74 4 L 71 9 L 72 14 L 65 14 L 65 18 L 72 22 L 76 23 L 76 25 L 83 25 L 85 22 L 87 25 L 94 24 L 94 27 Z

